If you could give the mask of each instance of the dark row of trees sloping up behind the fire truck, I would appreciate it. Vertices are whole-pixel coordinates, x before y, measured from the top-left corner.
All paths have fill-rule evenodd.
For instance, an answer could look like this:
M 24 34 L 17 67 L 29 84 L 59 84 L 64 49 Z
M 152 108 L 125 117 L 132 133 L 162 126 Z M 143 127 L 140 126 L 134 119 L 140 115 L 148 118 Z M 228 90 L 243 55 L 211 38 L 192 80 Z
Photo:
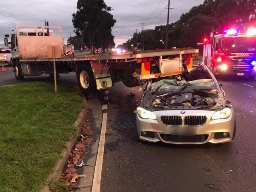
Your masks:
M 242 20 L 242 24 L 236 20 Z M 222 32 L 225 27 L 256 25 L 256 0 L 205 0 L 192 7 L 180 19 L 171 23 L 168 31 L 170 47 L 196 47 L 213 30 Z M 166 25 L 144 31 L 145 49 L 163 49 Z M 136 43 L 135 43 L 136 42 Z M 141 33 L 135 33 L 125 46 L 142 42 Z

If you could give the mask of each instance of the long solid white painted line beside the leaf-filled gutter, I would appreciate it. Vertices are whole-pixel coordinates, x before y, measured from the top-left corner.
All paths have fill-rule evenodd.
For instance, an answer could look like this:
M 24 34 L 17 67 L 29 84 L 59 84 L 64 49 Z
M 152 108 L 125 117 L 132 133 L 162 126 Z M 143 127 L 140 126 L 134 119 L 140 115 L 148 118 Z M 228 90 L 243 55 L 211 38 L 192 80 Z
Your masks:
M 103 163 L 103 155 L 104 155 L 104 145 L 105 145 L 105 135 L 106 135 L 106 120 L 107 113 L 103 113 L 102 125 L 100 131 L 100 141 L 98 147 L 98 155 L 96 159 L 96 165 L 94 170 L 94 176 L 92 181 L 92 192 L 100 191 L 100 181 L 101 181 L 101 171 L 102 171 L 102 163 Z

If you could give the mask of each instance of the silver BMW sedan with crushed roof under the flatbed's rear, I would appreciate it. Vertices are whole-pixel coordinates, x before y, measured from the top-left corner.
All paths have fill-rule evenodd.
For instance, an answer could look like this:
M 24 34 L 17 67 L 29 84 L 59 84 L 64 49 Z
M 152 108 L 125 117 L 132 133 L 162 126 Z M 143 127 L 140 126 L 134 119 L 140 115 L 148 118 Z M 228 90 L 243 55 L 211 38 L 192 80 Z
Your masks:
M 137 107 L 139 139 L 174 144 L 226 143 L 234 139 L 234 110 L 205 65 L 147 81 Z

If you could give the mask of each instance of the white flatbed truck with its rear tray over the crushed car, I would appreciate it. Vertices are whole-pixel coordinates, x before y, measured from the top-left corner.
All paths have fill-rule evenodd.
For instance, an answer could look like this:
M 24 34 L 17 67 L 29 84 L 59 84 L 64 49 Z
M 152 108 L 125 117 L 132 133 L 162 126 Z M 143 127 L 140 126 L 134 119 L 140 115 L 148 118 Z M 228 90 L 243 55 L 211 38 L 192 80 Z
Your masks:
M 55 60 L 56 74 L 76 72 L 80 90 L 86 95 L 111 88 L 120 81 L 134 87 L 147 79 L 181 74 L 186 67 L 192 67 L 192 57 L 198 53 L 198 49 L 182 48 L 64 56 L 61 27 L 16 25 L 15 28 L 12 34 L 5 35 L 4 42 L 11 47 L 17 80 L 43 73 L 52 75 Z

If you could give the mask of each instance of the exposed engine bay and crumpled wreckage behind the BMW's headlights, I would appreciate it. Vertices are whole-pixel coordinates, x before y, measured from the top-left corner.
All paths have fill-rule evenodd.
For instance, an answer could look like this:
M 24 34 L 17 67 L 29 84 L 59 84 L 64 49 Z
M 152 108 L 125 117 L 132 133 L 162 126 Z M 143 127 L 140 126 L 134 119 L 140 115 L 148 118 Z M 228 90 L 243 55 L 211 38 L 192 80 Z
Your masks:
M 166 79 L 148 80 L 142 106 L 151 110 L 217 109 L 226 106 L 225 94 L 205 66 Z

